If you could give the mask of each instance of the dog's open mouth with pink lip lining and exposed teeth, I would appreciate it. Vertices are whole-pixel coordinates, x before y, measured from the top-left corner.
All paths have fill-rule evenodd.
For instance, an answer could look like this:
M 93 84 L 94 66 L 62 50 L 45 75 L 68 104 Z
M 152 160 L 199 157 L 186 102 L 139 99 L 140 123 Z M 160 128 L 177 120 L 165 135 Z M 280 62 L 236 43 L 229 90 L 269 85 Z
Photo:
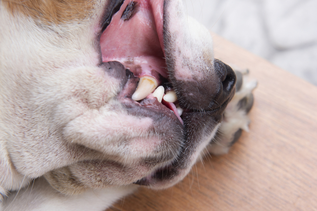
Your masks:
M 183 109 L 168 83 L 163 44 L 163 0 L 126 0 L 100 38 L 103 62 L 118 61 L 140 78 L 131 98 L 139 105 L 173 113 Z

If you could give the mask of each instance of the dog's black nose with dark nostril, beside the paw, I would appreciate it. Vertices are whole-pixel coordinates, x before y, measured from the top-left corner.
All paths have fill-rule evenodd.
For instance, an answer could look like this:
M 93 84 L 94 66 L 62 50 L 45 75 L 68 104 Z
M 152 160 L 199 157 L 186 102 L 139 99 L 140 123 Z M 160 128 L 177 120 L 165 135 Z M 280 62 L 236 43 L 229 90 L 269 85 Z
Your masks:
M 214 98 L 209 104 L 210 109 L 219 107 L 234 94 L 236 75 L 232 68 L 218 59 L 214 59 L 214 71 L 219 77 L 218 89 L 214 90 Z

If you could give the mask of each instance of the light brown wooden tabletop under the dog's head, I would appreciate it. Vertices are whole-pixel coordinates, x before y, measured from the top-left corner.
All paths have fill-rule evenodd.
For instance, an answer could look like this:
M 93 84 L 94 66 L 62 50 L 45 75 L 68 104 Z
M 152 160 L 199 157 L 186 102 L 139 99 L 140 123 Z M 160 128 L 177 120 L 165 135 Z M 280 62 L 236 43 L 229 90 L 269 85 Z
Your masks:
M 109 211 L 317 211 L 317 87 L 213 39 L 216 58 L 259 82 L 250 132 L 176 186 L 140 188 Z

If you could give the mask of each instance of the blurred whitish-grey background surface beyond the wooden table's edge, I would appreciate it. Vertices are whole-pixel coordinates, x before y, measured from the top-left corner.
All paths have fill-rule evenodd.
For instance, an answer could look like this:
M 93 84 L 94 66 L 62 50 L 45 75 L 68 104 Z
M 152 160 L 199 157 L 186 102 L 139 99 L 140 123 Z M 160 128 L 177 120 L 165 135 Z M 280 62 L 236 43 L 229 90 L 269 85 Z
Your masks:
M 209 30 L 317 85 L 317 0 L 184 0 Z

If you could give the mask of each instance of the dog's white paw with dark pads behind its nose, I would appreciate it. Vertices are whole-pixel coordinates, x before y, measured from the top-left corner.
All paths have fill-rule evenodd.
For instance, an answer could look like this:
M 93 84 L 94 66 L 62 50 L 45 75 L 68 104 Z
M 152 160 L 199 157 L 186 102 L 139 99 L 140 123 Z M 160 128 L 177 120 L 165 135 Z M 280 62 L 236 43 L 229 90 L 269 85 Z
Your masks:
M 239 139 L 242 130 L 249 131 L 250 112 L 254 97 L 252 91 L 257 81 L 248 80 L 248 70 L 236 71 L 236 93 L 223 113 L 223 121 L 206 150 L 208 153 L 220 155 L 228 153 L 230 147 Z

